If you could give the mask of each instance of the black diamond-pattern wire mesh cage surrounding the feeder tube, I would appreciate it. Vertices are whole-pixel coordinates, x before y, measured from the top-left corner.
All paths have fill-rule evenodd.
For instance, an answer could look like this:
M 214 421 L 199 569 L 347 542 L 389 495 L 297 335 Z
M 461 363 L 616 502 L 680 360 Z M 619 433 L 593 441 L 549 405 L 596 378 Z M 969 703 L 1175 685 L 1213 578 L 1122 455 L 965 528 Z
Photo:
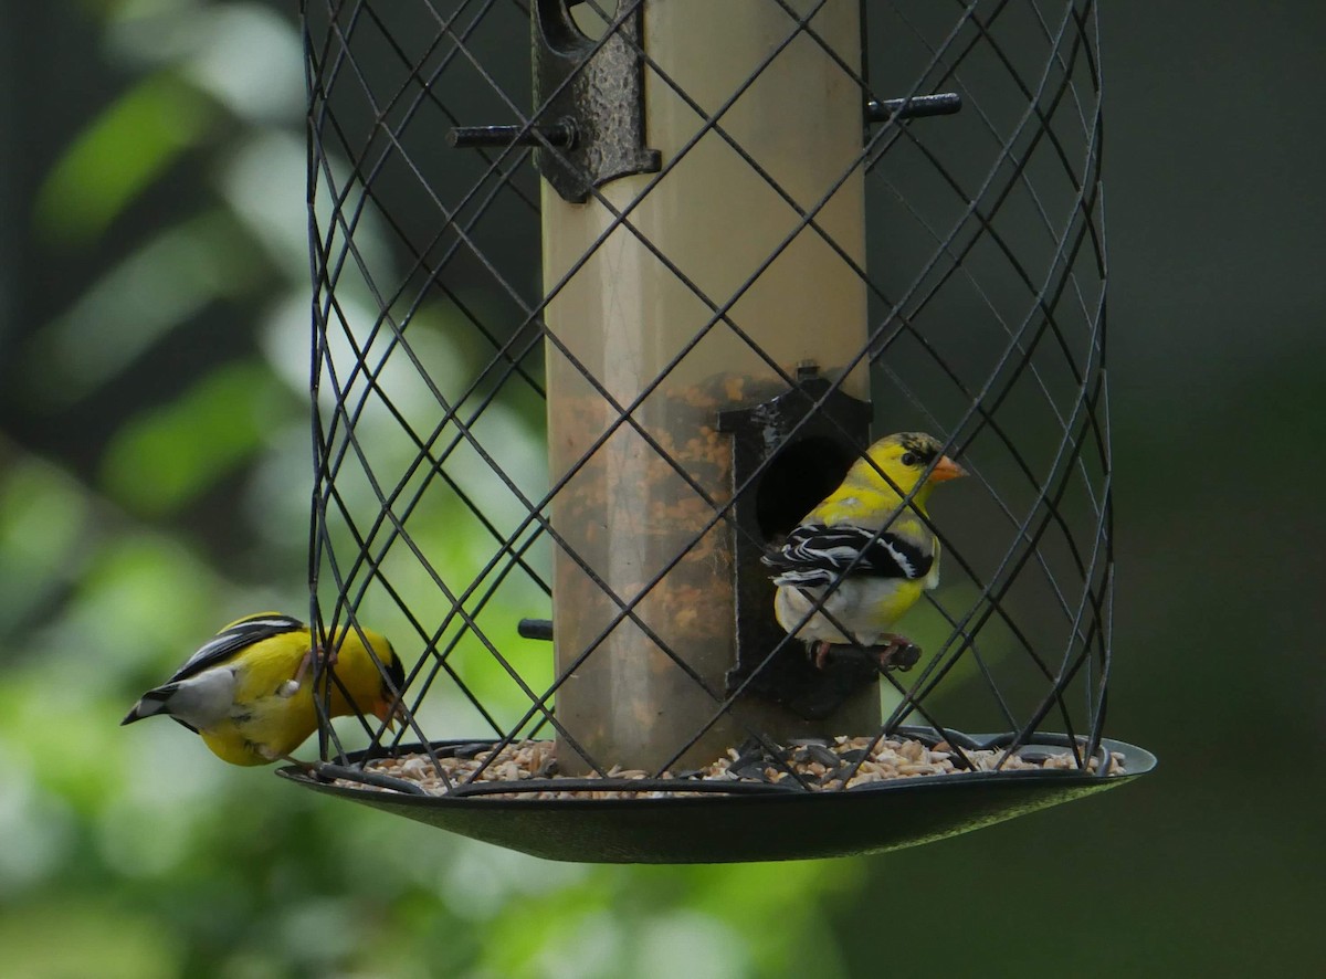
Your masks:
M 589 3 L 578 13 L 585 24 L 594 11 L 619 24 L 638 5 Z M 793 41 L 821 44 L 813 19 L 823 0 L 770 5 L 786 15 L 770 60 Z M 569 548 L 549 520 L 569 478 L 549 479 L 542 448 L 545 346 L 578 363 L 544 324 L 569 276 L 538 275 L 541 188 L 530 149 L 447 142 L 452 126 L 477 122 L 514 125 L 542 142 L 528 5 L 305 0 L 302 8 L 316 617 L 326 629 L 362 621 L 404 654 L 411 719 L 395 735 L 366 724 L 375 747 L 390 753 L 410 742 L 509 743 L 560 731 L 605 775 L 613 760 L 593 757 L 558 726 L 564 675 L 550 647 L 517 634 L 518 618 L 549 616 L 552 556 Z M 927 647 L 922 669 L 886 675 L 896 692 L 880 736 L 915 711 L 912 720 L 952 734 L 959 751 L 956 730 L 1014 731 L 1010 748 L 1057 731 L 1085 764 L 1102 734 L 1113 565 L 1095 17 L 1090 0 L 865 3 L 865 70 L 821 45 L 863 107 L 936 92 L 963 98 L 952 119 L 894 118 L 865 130 L 838 184 L 866 175 L 866 267 L 821 226 L 838 184 L 812 206 L 798 203 L 724 129 L 745 86 L 705 110 L 642 52 L 646 73 L 705 119 L 654 179 L 707 133 L 731 146 L 796 210 L 797 231 L 827 240 L 865 284 L 869 342 L 858 358 L 871 370 L 876 435 L 947 436 L 973 475 L 975 486 L 936 501 L 943 585 L 908 618 L 947 638 Z M 546 142 L 544 151 L 553 151 Z M 634 206 L 591 195 L 651 247 L 633 224 Z M 751 267 L 748 285 L 790 240 Z M 695 344 L 731 330 L 758 346 L 731 317 L 744 288 L 707 294 L 654 252 L 711 310 Z M 796 383 L 794 365 L 766 362 Z M 609 432 L 644 438 L 709 508 L 707 527 L 731 527 L 732 501 L 697 484 L 639 423 L 644 395 L 621 403 L 590 369 L 583 374 L 613 414 Z M 652 634 L 636 612 L 648 590 L 611 601 L 618 621 Z M 415 650 L 424 650 L 418 659 Z M 594 653 L 591 645 L 582 659 Z M 715 688 L 675 659 L 712 698 L 711 719 L 723 716 L 741 691 Z M 679 742 L 674 757 L 703 734 Z M 324 735 L 324 757 L 343 761 L 335 731 L 325 724 Z

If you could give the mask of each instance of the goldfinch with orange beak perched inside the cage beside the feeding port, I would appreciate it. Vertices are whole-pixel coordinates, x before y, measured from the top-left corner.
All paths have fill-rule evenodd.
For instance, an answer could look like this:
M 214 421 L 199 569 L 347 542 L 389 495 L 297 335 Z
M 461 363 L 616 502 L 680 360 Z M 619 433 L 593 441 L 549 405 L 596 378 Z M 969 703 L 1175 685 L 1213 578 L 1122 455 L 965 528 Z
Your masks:
M 879 439 L 866 452 L 870 460 L 858 459 L 782 547 L 765 555 L 777 570 L 778 625 L 810 643 L 815 666 L 823 667 L 833 646 L 882 647 L 882 665 L 911 649 L 915 662 L 919 650 L 890 630 L 939 584 L 939 541 L 920 517 L 935 484 L 967 475 L 941 452 L 937 439 L 920 432 Z

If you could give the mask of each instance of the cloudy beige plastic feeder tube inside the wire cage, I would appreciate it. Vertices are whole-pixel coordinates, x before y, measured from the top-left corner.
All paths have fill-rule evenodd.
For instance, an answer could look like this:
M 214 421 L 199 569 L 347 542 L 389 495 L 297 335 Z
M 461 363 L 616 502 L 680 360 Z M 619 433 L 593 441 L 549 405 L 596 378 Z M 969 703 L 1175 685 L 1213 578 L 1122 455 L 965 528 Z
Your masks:
M 865 267 L 865 174 L 853 168 L 861 88 L 823 46 L 859 72 L 857 0 L 819 7 L 810 20 L 818 40 L 766 0 L 646 0 L 643 13 L 646 135 L 663 174 L 611 180 L 603 202 L 585 204 L 545 182 L 542 229 L 544 283 L 554 291 L 550 472 L 574 474 L 552 504 L 565 540 L 553 573 L 557 663 L 570 674 L 557 716 L 602 765 L 654 771 L 719 710 L 704 687 L 721 698 L 735 662 L 732 531 L 724 519 L 711 527 L 732 492 L 716 415 L 786 389 L 764 356 L 789 375 L 814 361 L 839 377 L 867 325 L 861 276 L 797 214 L 814 211 Z M 709 114 L 756 166 L 707 127 Z M 869 398 L 863 366 L 843 390 Z M 636 402 L 623 421 L 619 409 Z M 866 692 L 817 731 L 876 727 L 878 695 Z M 741 716 L 772 738 L 808 731 L 773 704 Z M 724 716 L 674 767 L 711 761 L 747 736 Z M 589 769 L 565 739 L 558 761 L 568 773 Z

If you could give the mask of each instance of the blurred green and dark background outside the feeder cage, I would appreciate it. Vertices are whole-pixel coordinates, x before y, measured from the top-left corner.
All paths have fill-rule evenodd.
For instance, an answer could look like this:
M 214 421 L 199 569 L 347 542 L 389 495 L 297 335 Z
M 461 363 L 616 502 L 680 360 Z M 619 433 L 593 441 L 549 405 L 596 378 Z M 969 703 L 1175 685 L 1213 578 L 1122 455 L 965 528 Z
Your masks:
M 1315 5 L 1179 3 L 1148 29 L 1106 12 L 1110 730 L 1154 748 L 1160 773 L 887 857 L 712 868 L 548 864 L 228 768 L 171 724 L 117 727 L 220 623 L 306 608 L 300 45 L 289 4 L 42 7 L 34 28 L 95 28 L 98 94 L 80 105 L 99 109 L 62 134 L 9 229 L 90 276 L 45 289 L 49 314 L 3 334 L 5 975 L 1244 976 L 1319 962 L 1323 793 L 1307 776 L 1326 568 L 1309 535 L 1326 296 L 1318 240 L 1296 232 L 1280 264 L 1265 252 L 1321 212 L 1302 166 L 1321 135 L 1299 145 L 1306 127 L 1272 107 L 1258 131 L 1281 143 L 1227 163 L 1227 117 L 1192 114 L 1199 92 L 1229 103 L 1235 84 L 1196 58 L 1199 24 L 1257 40 L 1228 41 L 1238 94 L 1274 106 L 1321 81 L 1319 64 L 1276 56 L 1319 37 Z M 1180 122 L 1160 133 L 1162 113 Z M 1256 190 L 1258 211 L 1245 184 L 1224 233 L 1211 187 L 1268 155 L 1280 186 Z M 1177 162 L 1158 175 L 1159 159 Z M 537 422 L 513 406 L 503 423 Z M 467 560 L 465 541 L 447 547 Z

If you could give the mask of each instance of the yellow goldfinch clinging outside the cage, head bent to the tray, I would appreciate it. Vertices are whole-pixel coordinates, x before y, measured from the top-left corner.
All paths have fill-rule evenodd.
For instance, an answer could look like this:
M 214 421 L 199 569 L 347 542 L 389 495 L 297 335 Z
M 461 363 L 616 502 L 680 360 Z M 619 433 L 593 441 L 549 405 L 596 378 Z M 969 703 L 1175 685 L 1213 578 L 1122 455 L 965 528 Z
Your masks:
M 404 688 L 404 669 L 385 637 L 365 629 L 363 638 L 391 685 L 359 633 L 343 630 L 325 658 L 334 674 L 332 716 L 363 712 L 390 724 L 402 712 L 396 694 Z M 166 683 L 143 694 L 121 724 L 166 714 L 231 764 L 293 760 L 290 752 L 317 727 L 313 685 L 306 682 L 313 655 L 313 637 L 297 618 L 274 612 L 241 618 L 206 642 Z

